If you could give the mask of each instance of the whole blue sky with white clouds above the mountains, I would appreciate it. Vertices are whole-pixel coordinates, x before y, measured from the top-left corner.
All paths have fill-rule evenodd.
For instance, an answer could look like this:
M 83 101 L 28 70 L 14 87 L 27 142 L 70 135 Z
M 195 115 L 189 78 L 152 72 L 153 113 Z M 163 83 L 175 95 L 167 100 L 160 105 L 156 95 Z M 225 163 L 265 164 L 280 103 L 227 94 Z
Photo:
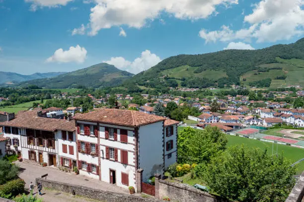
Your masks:
M 177 54 L 304 36 L 304 0 L 0 0 L 0 71 L 138 73 Z

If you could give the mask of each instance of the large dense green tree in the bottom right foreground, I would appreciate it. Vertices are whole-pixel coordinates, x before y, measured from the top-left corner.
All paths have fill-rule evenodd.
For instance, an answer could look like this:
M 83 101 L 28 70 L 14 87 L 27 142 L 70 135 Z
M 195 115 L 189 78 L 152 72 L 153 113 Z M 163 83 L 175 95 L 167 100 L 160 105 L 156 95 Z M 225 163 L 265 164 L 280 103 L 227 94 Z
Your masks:
M 283 155 L 231 147 L 206 169 L 213 192 L 239 202 L 284 202 L 292 190 L 296 167 Z

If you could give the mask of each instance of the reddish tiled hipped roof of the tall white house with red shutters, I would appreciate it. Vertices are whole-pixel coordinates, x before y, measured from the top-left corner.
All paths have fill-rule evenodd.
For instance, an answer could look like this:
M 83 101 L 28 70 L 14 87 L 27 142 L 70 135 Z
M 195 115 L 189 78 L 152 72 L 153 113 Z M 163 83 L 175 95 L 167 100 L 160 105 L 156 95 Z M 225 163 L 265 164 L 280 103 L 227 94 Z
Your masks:
M 125 109 L 99 109 L 77 114 L 74 119 L 130 127 L 138 127 L 165 120 L 161 116 Z

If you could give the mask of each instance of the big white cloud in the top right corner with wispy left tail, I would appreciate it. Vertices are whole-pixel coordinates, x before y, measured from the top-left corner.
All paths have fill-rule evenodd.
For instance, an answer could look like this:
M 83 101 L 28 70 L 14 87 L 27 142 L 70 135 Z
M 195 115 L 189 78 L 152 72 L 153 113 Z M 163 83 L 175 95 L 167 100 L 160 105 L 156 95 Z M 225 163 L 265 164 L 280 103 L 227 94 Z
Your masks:
M 250 27 L 232 31 L 223 25 L 222 30 L 202 29 L 199 36 L 208 42 L 256 39 L 257 42 L 288 40 L 304 34 L 304 0 L 261 0 L 254 4 L 252 13 L 244 16 Z M 246 25 L 246 24 L 245 24 Z

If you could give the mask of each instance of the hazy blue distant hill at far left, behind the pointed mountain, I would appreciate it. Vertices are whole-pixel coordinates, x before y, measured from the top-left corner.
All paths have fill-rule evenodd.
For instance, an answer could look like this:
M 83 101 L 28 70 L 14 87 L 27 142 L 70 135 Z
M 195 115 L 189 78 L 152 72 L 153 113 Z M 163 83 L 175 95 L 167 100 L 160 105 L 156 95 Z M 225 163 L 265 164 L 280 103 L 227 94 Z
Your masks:
M 65 73 L 66 72 L 48 72 L 48 73 L 34 73 L 31 75 L 22 75 L 14 72 L 0 71 L 0 84 L 16 84 L 33 79 L 50 78 Z

